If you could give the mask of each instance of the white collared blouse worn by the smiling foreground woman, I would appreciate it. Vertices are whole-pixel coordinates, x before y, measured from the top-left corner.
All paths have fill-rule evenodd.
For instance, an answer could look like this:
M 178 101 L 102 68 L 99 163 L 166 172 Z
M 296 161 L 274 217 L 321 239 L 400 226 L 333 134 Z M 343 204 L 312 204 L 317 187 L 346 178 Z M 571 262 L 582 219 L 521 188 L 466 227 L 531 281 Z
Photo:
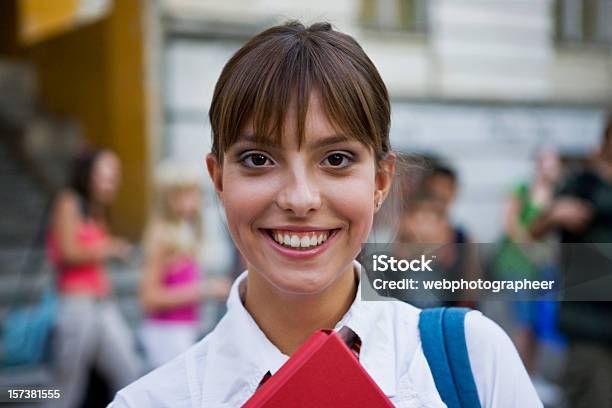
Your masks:
M 359 264 L 356 264 L 360 267 Z M 289 358 L 259 329 L 240 299 L 244 272 L 232 285 L 216 328 L 174 360 L 117 393 L 111 408 L 240 407 L 264 375 Z M 336 330 L 361 339 L 359 361 L 397 407 L 445 407 L 421 348 L 420 309 L 357 296 Z M 506 333 L 478 311 L 465 321 L 467 348 L 482 407 L 542 407 Z

